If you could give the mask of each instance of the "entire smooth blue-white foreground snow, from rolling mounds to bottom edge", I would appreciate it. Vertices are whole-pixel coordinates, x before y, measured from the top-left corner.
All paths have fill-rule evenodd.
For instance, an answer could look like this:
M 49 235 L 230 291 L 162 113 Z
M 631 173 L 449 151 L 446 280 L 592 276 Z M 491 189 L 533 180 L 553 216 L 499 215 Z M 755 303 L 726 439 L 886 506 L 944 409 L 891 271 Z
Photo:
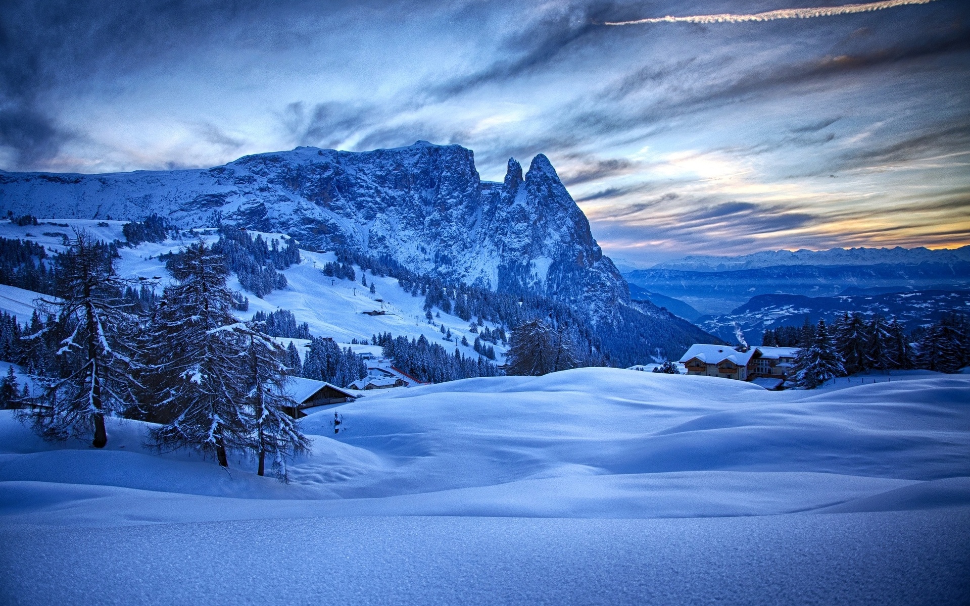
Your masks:
M 967 375 L 467 379 L 308 416 L 289 485 L 4 411 L 0 602 L 965 603 L 967 402 Z

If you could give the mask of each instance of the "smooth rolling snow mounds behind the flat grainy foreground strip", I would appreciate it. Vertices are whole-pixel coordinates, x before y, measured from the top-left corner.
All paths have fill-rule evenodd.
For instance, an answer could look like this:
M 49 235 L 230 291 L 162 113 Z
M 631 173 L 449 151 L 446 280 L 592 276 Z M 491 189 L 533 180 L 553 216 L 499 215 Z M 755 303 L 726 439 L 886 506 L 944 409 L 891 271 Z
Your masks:
M 113 422 L 96 451 L 46 444 L 4 413 L 0 513 L 85 525 L 747 516 L 899 489 L 915 491 L 908 508 L 934 506 L 939 491 L 970 503 L 970 482 L 954 480 L 970 477 L 967 401 L 963 375 L 821 394 L 612 368 L 467 379 L 339 406 L 336 435 L 333 410 L 308 416 L 313 453 L 294 462 L 289 485 L 238 457 L 227 474 L 188 453 L 151 454 L 141 423 Z

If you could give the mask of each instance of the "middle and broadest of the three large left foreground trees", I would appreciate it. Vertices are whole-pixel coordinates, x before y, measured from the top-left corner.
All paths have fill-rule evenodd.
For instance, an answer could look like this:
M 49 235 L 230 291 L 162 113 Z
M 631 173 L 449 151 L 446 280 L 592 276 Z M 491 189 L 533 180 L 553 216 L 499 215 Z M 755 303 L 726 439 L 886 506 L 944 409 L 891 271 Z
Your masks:
M 232 314 L 222 255 L 200 239 L 178 255 L 143 339 L 151 386 L 150 431 L 163 451 L 191 448 L 229 466 L 226 452 L 253 446 L 249 331 Z

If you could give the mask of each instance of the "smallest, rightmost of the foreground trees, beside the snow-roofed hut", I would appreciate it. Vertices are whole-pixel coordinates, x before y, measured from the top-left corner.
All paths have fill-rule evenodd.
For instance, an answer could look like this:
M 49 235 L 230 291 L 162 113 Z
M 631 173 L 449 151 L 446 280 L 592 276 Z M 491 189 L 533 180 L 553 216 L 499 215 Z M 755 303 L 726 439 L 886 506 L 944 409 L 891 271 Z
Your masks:
M 287 392 L 286 351 L 272 337 L 259 331 L 259 322 L 250 323 L 249 337 L 249 394 L 257 473 L 264 475 L 266 457 L 270 456 L 276 477 L 287 480 L 286 461 L 306 452 L 307 436 L 300 431 L 296 420 L 283 410 L 296 410 L 297 402 Z

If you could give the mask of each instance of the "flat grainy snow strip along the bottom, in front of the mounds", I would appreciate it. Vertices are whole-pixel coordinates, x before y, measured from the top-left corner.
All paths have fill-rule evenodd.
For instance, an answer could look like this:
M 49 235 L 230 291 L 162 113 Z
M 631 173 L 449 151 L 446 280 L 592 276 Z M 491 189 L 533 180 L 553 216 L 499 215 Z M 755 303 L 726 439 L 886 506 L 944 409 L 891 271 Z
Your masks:
M 0 526 L 0 602 L 965 604 L 970 511 Z

